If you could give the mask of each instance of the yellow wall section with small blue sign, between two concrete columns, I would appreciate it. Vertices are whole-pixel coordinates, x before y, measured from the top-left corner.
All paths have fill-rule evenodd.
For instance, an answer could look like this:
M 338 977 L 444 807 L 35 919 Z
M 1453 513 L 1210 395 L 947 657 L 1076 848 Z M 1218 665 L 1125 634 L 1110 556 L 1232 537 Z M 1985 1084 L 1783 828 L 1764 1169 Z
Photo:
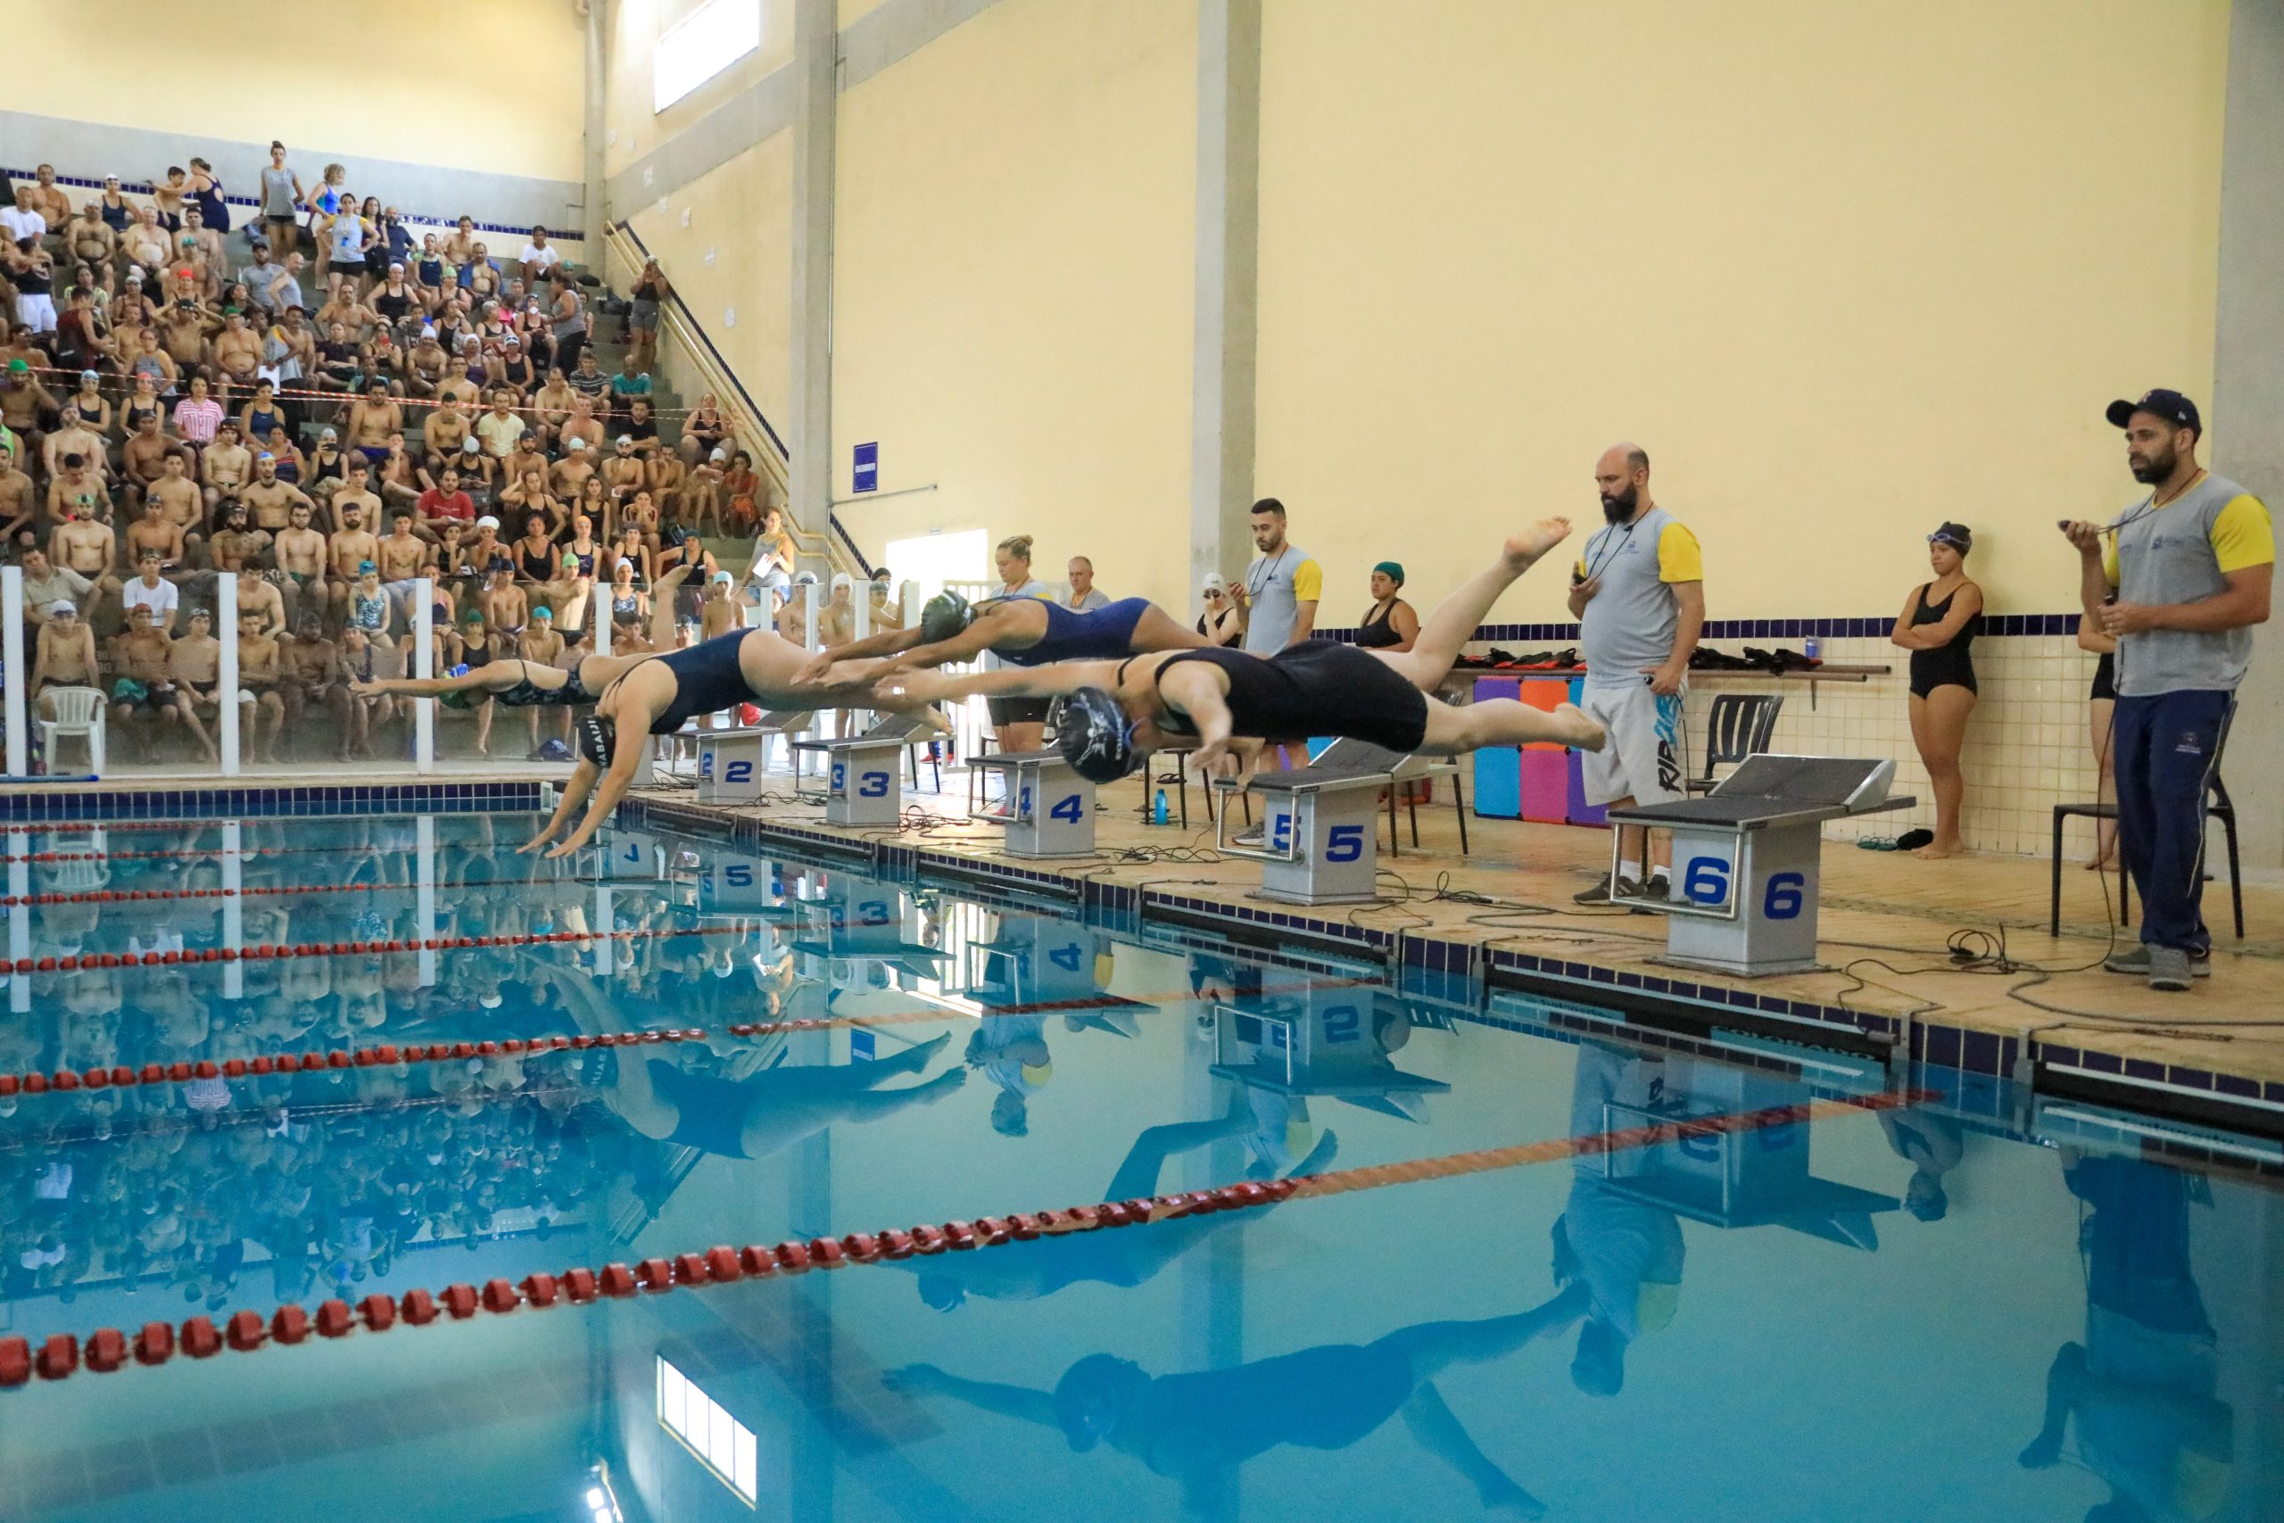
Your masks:
M 834 495 L 879 559 L 932 527 L 1094 557 L 1110 596 L 1188 580 L 1197 21 L 1000 0 L 841 98 Z

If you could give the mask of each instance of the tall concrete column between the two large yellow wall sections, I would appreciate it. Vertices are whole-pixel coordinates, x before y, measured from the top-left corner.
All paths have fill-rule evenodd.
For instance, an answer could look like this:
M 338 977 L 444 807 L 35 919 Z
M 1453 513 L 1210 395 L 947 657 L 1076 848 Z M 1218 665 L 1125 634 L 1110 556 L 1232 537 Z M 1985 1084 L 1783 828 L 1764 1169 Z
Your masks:
M 1261 276 L 1261 0 L 1197 5 L 1197 327 L 1190 587 L 1249 557 Z

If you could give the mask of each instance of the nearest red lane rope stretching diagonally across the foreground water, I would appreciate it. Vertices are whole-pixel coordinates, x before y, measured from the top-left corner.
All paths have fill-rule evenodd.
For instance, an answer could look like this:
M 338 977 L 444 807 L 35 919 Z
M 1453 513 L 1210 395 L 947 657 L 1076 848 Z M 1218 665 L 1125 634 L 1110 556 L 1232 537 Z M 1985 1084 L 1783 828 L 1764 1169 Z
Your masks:
M 1222 1210 L 1254 1210 L 1284 1201 L 1352 1194 L 1357 1190 L 1382 1190 L 1389 1185 L 1412 1185 L 1430 1178 L 1455 1178 L 1462 1174 L 1485 1174 L 1523 1165 L 1581 1158 L 1590 1153 L 1617 1153 L 1640 1146 L 1656 1146 L 1679 1137 L 1711 1137 L 1720 1133 L 1747 1133 L 1768 1126 L 1793 1126 L 1820 1121 L 1839 1114 L 1900 1110 L 1937 1098 L 1932 1089 L 1884 1091 L 1873 1096 L 1848 1096 L 1834 1101 L 1807 1101 L 1795 1105 L 1772 1105 L 1766 1110 L 1688 1117 L 1679 1121 L 1651 1121 L 1615 1133 L 1587 1133 L 1578 1137 L 1553 1137 L 1549 1142 L 1526 1142 L 1505 1149 L 1482 1149 L 1475 1153 L 1443 1153 L 1398 1165 L 1368 1165 L 1359 1169 L 1334 1169 L 1332 1174 L 1304 1174 L 1268 1183 L 1222 1185 L 1220 1190 L 1195 1190 L 1188 1194 L 1137 1196 L 1133 1201 L 1108 1201 L 1099 1206 L 1071 1206 L 1064 1210 L 1016 1212 L 1007 1217 L 978 1217 L 973 1222 L 923 1222 L 909 1228 L 882 1233 L 847 1233 L 843 1238 L 811 1238 L 809 1242 L 786 1240 L 774 1247 L 717 1244 L 697 1254 L 671 1258 L 644 1258 L 637 1265 L 608 1263 L 601 1270 L 571 1267 L 562 1274 L 525 1274 L 521 1281 L 505 1276 L 486 1279 L 482 1286 L 455 1281 L 439 1292 L 407 1290 L 402 1297 L 368 1295 L 356 1306 L 333 1297 L 313 1313 L 297 1304 L 279 1306 L 267 1317 L 258 1311 L 235 1311 L 222 1327 L 212 1317 L 187 1317 L 180 1329 L 174 1322 L 144 1322 L 132 1340 L 116 1327 L 98 1327 L 85 1343 L 73 1333 L 50 1333 L 34 1349 L 25 1336 L 0 1338 L 0 1388 L 16 1388 L 32 1381 L 69 1379 L 78 1370 L 112 1375 L 128 1363 L 162 1365 L 176 1354 L 185 1359 L 212 1359 L 224 1347 L 251 1354 L 265 1347 L 295 1347 L 308 1343 L 311 1333 L 324 1340 L 349 1333 L 386 1333 L 397 1322 L 427 1327 L 439 1317 L 450 1322 L 475 1320 L 477 1313 L 509 1315 L 514 1311 L 548 1311 L 553 1306 L 592 1306 L 601 1299 L 628 1299 L 635 1295 L 667 1295 L 669 1290 L 729 1286 L 745 1279 L 793 1279 L 811 1270 L 843 1270 L 852 1265 L 898 1263 L 914 1256 L 968 1254 L 975 1249 L 998 1249 L 1010 1242 L 1037 1242 L 1039 1238 L 1062 1238 L 1071 1233 L 1110 1231 L 1124 1226 L 1156 1226 L 1185 1217 L 1201 1217 Z

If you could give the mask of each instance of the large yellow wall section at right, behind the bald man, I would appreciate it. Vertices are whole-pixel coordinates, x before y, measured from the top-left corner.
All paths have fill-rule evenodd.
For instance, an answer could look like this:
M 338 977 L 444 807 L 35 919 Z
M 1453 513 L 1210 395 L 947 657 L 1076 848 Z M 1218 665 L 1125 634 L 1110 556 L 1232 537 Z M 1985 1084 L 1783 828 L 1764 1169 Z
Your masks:
M 2227 0 L 1268 0 L 1258 489 L 1432 601 L 1599 523 L 1615 438 L 1713 617 L 1868 614 L 1976 527 L 2076 605 L 2101 406 L 2211 395 Z M 1501 619 L 1560 619 L 1558 578 Z

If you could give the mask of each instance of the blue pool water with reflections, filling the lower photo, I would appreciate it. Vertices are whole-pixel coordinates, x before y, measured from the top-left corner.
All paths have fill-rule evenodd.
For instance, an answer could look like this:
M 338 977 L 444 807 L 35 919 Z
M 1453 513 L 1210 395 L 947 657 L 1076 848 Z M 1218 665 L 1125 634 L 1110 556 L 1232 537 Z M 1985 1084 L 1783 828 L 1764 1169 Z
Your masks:
M 164 895 L 16 906 L 9 957 L 518 941 L 18 975 L 0 1073 L 708 1039 L 9 1096 L 0 1336 L 1373 1187 L 32 1379 L 0 1518 L 2284 1516 L 2261 1144 L 2165 1162 L 1946 1073 L 1843 1105 L 1898 1080 L 717 843 L 539 863 L 530 829 L 7 836 L 98 854 L 11 895 Z M 523 941 L 596 929 L 633 934 Z M 1549 1146 L 1450 1165 L 1514 1144 Z

